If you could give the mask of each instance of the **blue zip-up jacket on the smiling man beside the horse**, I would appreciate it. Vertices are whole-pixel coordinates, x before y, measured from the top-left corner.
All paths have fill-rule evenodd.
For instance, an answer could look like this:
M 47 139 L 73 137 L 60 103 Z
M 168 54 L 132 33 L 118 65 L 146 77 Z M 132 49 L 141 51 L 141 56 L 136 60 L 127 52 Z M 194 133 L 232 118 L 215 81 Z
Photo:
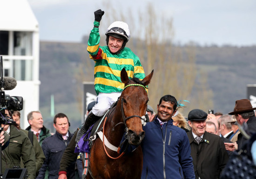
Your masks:
M 185 130 L 174 126 L 172 119 L 161 128 L 157 116 L 143 130 L 141 179 L 195 179 Z

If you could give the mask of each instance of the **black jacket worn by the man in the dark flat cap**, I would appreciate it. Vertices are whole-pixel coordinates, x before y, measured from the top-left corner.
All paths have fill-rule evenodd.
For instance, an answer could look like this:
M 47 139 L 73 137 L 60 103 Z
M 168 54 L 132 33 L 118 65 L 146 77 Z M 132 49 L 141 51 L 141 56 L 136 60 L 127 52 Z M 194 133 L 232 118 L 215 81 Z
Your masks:
M 229 155 L 221 137 L 205 132 L 198 144 L 192 130 L 188 133 L 191 156 L 195 171 L 195 179 L 218 179 L 229 160 Z

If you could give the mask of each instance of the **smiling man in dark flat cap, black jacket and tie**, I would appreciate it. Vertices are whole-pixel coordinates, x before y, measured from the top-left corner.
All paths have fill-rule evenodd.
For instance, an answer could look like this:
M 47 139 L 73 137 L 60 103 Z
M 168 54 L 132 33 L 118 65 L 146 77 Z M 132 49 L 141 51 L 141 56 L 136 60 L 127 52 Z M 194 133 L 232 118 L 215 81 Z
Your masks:
M 221 137 L 205 131 L 207 113 L 201 109 L 189 112 L 189 143 L 195 171 L 195 179 L 218 179 L 229 155 Z

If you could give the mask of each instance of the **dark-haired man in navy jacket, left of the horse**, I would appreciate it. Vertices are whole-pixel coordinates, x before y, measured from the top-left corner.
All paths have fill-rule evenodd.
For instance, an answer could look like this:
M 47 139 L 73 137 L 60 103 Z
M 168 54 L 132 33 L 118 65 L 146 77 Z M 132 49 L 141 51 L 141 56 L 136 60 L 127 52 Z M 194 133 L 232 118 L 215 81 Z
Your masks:
M 47 137 L 42 143 L 42 149 L 45 154 L 45 161 L 39 170 L 37 179 L 44 179 L 45 172 L 48 167 L 48 179 L 57 179 L 60 169 L 60 162 L 62 154 L 70 143 L 73 134 L 68 131 L 70 123 L 67 115 L 58 113 L 54 116 L 54 128 L 56 132 L 54 135 Z M 75 161 L 67 168 L 67 178 L 74 179 Z

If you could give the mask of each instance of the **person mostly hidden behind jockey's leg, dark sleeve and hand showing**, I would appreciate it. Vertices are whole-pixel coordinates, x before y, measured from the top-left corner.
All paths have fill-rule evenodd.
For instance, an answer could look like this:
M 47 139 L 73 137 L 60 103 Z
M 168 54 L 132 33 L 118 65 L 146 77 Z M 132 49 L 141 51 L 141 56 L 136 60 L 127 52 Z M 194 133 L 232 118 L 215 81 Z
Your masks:
M 93 109 L 95 105 L 95 101 L 90 102 L 87 106 L 87 114 Z M 74 132 L 74 136 L 72 137 L 70 143 L 67 145 L 67 148 L 65 149 L 62 157 L 61 157 L 61 163 L 60 163 L 60 170 L 59 170 L 59 179 L 67 179 L 67 167 L 76 160 L 76 167 L 78 170 L 79 178 L 82 179 L 82 173 L 83 173 L 83 162 L 81 153 L 77 155 L 77 153 L 74 153 L 75 149 L 75 138 L 77 135 L 79 128 Z

